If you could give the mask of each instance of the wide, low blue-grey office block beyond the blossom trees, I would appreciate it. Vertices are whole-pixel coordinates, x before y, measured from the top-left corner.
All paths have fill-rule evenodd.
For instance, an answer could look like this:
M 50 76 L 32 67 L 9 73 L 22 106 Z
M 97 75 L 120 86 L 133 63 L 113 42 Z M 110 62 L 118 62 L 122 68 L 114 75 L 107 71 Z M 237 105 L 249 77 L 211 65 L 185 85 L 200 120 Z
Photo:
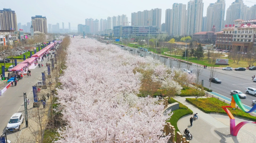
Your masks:
M 157 36 L 157 26 L 114 26 L 113 34 L 115 37 L 128 38 L 131 36 Z

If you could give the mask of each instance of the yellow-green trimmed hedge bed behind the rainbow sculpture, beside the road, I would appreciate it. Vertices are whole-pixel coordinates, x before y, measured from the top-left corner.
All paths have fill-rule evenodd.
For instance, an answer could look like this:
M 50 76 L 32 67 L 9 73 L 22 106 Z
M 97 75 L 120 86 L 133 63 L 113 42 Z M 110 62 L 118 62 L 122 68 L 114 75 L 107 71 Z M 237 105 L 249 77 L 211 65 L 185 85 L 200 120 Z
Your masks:
M 229 104 L 224 103 L 217 98 L 198 98 L 197 100 L 195 98 L 186 98 L 186 101 L 193 104 L 205 113 L 220 113 L 227 115 L 227 113 L 221 108 L 221 106 L 227 106 Z M 240 109 L 236 108 L 235 110 L 233 110 L 232 108 L 229 108 L 229 111 L 233 114 L 233 116 L 256 121 L 256 116 L 245 113 Z

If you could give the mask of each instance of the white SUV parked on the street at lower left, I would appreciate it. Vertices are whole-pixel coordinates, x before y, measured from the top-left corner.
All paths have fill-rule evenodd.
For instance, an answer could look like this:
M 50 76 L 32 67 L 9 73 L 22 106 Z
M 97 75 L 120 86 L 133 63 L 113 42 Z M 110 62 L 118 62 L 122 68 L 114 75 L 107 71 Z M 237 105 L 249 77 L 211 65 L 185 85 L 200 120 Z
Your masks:
M 24 120 L 24 117 L 22 113 L 13 114 L 6 126 L 6 130 L 8 132 L 20 130 L 20 126 L 22 125 L 23 120 Z

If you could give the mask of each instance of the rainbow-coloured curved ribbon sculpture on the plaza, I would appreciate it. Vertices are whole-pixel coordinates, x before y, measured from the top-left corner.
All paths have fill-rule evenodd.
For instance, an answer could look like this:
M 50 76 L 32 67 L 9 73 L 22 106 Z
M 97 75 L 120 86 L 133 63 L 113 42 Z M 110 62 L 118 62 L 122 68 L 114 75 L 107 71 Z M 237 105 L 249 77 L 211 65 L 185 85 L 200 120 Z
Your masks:
M 244 111 L 246 113 L 253 112 L 256 109 L 256 105 L 254 105 L 252 107 L 252 109 L 250 109 L 250 111 L 247 111 L 244 108 L 244 106 L 243 106 L 243 104 L 242 104 L 242 102 L 241 102 L 241 100 L 240 100 L 240 98 L 238 97 L 237 94 L 234 94 L 232 96 L 232 100 L 231 100 L 231 105 L 230 106 L 222 106 L 222 108 L 227 113 L 227 115 L 229 115 L 229 118 L 230 118 L 230 134 L 233 135 L 233 136 L 237 136 L 237 133 L 239 132 L 240 128 L 242 128 L 242 126 L 245 125 L 246 123 L 256 123 L 256 122 L 252 122 L 252 121 L 244 121 L 244 122 L 241 122 L 241 123 L 237 124 L 237 126 L 236 126 L 236 122 L 235 122 L 234 116 L 227 109 L 227 108 L 236 108 L 236 104 L 238 105 L 238 107 L 240 109 L 242 109 L 242 111 Z

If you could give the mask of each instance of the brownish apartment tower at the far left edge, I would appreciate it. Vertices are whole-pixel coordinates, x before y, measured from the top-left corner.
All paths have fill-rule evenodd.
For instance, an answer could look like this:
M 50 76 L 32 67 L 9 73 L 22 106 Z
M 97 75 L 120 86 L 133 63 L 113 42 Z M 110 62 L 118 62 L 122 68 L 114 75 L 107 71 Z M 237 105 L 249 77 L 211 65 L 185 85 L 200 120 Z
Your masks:
M 1 30 L 18 30 L 16 13 L 10 8 L 0 10 L 0 22 Z

